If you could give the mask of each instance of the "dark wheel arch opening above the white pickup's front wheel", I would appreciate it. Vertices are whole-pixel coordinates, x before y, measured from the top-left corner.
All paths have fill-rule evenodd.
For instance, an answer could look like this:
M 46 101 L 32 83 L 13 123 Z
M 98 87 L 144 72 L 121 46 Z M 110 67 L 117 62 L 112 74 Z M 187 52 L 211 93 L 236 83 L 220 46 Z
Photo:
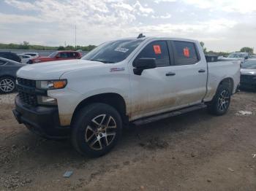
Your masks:
M 83 107 L 88 106 L 89 104 L 93 103 L 102 103 L 102 104 L 108 104 L 110 106 L 113 106 L 119 114 L 121 115 L 121 119 L 124 123 L 127 123 L 129 121 L 129 117 L 127 117 L 127 104 L 124 100 L 124 98 L 118 94 L 118 93 L 100 93 L 97 95 L 92 95 L 89 98 L 84 99 L 83 101 L 80 101 L 78 106 L 76 106 L 75 111 L 72 115 L 71 124 L 73 123 L 76 114 L 80 111 L 80 109 L 83 109 Z

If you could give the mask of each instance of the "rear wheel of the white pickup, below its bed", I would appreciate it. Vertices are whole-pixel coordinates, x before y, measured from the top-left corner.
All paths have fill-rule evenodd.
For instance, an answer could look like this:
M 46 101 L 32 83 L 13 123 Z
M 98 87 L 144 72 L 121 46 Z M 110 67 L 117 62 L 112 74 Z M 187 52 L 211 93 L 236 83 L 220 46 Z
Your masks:
M 222 115 L 227 112 L 230 106 L 231 93 L 228 87 L 220 85 L 211 103 L 208 104 L 208 111 L 211 114 Z

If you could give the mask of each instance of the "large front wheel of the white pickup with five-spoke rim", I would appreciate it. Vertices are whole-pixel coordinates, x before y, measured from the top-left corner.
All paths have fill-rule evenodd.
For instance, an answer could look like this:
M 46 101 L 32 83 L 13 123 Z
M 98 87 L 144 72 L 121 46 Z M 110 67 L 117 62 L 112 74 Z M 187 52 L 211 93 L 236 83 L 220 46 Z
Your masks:
M 120 114 L 107 104 L 91 104 L 75 116 L 72 144 L 82 155 L 99 157 L 110 152 L 121 136 Z

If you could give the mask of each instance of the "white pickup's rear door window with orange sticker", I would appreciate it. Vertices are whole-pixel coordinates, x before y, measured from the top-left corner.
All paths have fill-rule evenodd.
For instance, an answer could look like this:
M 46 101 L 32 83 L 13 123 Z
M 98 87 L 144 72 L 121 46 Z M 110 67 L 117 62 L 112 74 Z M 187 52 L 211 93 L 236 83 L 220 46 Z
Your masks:
M 173 41 L 172 44 L 175 65 L 189 65 L 200 61 L 195 43 Z

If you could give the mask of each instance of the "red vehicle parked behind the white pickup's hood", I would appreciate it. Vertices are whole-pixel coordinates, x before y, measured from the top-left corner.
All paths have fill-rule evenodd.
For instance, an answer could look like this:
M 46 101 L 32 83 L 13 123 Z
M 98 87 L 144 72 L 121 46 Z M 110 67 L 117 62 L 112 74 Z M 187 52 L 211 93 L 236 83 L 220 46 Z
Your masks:
M 48 55 L 47 57 L 38 57 L 32 58 L 28 61 L 28 63 L 42 63 L 42 62 L 50 62 L 50 61 L 62 61 L 62 60 L 69 60 L 69 59 L 80 59 L 81 55 L 80 52 L 76 51 L 56 51 Z

